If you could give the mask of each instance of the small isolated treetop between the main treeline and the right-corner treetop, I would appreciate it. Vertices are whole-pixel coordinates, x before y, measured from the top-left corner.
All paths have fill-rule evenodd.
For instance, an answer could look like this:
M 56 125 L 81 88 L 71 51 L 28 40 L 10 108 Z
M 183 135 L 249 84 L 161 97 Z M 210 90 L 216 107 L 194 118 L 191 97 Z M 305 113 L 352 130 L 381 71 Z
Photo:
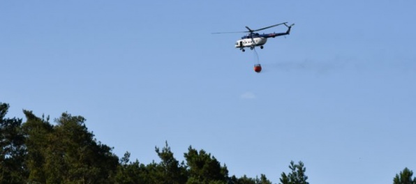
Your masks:
M 299 164 L 295 164 L 291 161 L 289 168 L 292 170 L 289 174 L 286 175 L 285 172 L 281 174 L 281 184 L 309 184 L 306 181 L 308 176 L 305 175 L 306 167 L 303 162 L 299 161 Z

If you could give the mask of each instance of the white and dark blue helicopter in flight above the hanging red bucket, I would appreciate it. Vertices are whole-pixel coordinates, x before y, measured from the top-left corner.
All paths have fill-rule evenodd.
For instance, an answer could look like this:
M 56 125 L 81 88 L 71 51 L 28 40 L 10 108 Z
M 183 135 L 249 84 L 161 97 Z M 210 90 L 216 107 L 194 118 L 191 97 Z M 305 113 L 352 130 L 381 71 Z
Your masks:
M 265 30 L 265 29 L 269 29 L 272 28 L 274 26 L 279 26 L 279 25 L 285 25 L 286 27 L 288 27 L 288 31 L 286 31 L 285 33 L 255 33 L 257 31 L 261 31 L 261 30 Z M 237 32 L 220 32 L 220 33 L 248 33 L 246 36 L 242 36 L 242 38 L 240 40 L 237 40 L 237 42 L 235 43 L 235 48 L 239 48 L 242 52 L 245 52 L 246 50 L 244 49 L 245 47 L 249 47 L 250 49 L 254 49 L 254 47 L 260 47 L 260 49 L 263 49 L 263 45 L 266 44 L 267 42 L 267 38 L 275 38 L 276 36 L 285 36 L 290 34 L 290 29 L 292 29 L 292 26 L 294 26 L 295 24 L 290 24 L 288 25 L 288 22 L 283 22 L 281 24 L 275 24 L 272 26 L 267 26 L 267 27 L 263 27 L 261 29 L 250 29 L 248 26 L 246 26 L 246 29 L 248 29 L 248 31 L 237 31 Z M 213 33 L 213 34 L 219 34 L 219 33 Z

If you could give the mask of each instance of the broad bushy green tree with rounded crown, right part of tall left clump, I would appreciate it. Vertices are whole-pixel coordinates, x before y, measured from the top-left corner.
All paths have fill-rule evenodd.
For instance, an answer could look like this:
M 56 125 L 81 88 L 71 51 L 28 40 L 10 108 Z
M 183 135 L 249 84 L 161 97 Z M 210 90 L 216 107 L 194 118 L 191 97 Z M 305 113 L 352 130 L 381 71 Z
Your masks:
M 50 176 L 61 176 L 59 182 L 107 183 L 117 169 L 118 158 L 112 148 L 96 142 L 84 121 L 82 116 L 66 113 L 56 120 L 52 146 L 47 149 L 52 155 L 47 168 Z

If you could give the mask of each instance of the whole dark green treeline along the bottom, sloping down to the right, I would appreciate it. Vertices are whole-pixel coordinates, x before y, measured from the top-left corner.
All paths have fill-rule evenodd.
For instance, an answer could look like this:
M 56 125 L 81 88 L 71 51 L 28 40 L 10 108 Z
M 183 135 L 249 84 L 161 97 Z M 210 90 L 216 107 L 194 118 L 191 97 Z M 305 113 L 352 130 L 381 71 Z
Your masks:
M 149 164 L 122 158 L 94 139 L 85 118 L 64 113 L 50 123 L 24 110 L 22 118 L 6 118 L 8 104 L 0 102 L 0 183 L 146 183 L 146 184 L 271 184 L 260 177 L 230 176 L 225 164 L 204 150 L 190 146 L 179 162 L 168 143 L 155 148 L 161 162 Z M 302 162 L 290 162 L 281 184 L 309 184 Z M 394 184 L 416 184 L 413 172 L 404 169 Z

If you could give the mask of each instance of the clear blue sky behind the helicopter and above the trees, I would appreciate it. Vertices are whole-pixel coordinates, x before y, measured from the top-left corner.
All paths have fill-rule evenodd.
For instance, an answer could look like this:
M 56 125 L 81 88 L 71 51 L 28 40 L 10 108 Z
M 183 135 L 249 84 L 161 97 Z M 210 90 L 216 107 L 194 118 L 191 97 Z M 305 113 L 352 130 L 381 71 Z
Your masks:
M 87 118 L 145 164 L 168 141 L 230 175 L 392 183 L 416 171 L 416 1 L 1 1 L 0 101 Z M 290 36 L 234 48 L 245 31 Z M 284 26 L 265 33 L 285 31 Z

